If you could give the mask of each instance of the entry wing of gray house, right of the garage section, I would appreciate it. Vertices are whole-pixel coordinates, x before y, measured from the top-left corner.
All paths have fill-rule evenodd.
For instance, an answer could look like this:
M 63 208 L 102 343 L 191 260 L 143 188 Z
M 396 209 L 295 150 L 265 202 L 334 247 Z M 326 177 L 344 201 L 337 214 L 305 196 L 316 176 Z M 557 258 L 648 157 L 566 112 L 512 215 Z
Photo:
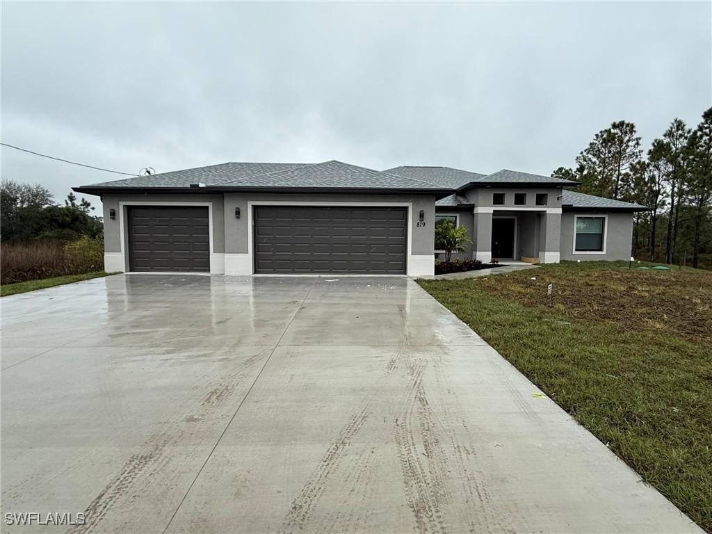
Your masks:
M 436 201 L 435 221 L 466 226 L 474 246 L 461 256 L 485 263 L 627 260 L 633 214 L 647 209 L 568 189 L 577 182 L 506 169 L 488 175 L 450 167 L 386 172 L 452 187 L 454 194 Z

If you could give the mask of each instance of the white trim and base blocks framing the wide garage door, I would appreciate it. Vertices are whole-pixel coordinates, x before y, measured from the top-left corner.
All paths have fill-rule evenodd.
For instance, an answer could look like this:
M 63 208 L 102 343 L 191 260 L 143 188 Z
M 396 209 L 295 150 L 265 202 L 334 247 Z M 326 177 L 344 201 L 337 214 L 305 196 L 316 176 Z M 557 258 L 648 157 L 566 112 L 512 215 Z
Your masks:
M 406 275 L 416 276 L 420 274 L 419 259 L 412 254 L 413 240 L 413 203 L 412 202 L 344 202 L 344 201 L 274 201 L 274 200 L 248 200 L 247 201 L 247 253 L 229 254 L 226 257 L 226 273 L 228 274 L 254 274 L 253 262 L 253 206 L 394 206 L 407 208 L 407 236 L 406 236 Z M 432 256 L 427 256 L 429 263 L 433 262 Z M 432 268 L 432 267 L 431 267 Z M 305 275 L 271 275 L 261 274 L 258 276 L 305 276 Z M 324 275 L 311 275 L 324 276 Z M 338 276 L 397 276 L 397 275 L 338 275 Z M 402 276 L 402 275 L 401 275 Z

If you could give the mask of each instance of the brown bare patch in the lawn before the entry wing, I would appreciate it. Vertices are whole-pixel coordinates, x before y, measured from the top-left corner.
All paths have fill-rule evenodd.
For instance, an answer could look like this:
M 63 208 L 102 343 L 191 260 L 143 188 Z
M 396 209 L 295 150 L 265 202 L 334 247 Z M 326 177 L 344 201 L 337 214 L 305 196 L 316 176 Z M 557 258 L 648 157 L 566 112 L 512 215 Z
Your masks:
M 560 263 L 506 278 L 479 278 L 476 283 L 490 295 L 526 306 L 551 305 L 568 318 L 610 321 L 624 330 L 657 330 L 712 343 L 709 271 L 642 271 L 618 262 Z

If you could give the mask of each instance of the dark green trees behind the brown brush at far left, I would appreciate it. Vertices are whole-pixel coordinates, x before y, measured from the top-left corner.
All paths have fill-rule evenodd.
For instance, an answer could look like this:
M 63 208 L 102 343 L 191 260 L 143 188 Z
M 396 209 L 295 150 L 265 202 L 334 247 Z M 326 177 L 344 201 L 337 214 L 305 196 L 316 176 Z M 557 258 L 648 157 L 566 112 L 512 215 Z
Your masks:
M 74 241 L 81 236 L 98 239 L 103 224 L 89 201 L 77 201 L 68 194 L 63 205 L 55 204 L 53 195 L 40 184 L 0 182 L 0 241 Z

